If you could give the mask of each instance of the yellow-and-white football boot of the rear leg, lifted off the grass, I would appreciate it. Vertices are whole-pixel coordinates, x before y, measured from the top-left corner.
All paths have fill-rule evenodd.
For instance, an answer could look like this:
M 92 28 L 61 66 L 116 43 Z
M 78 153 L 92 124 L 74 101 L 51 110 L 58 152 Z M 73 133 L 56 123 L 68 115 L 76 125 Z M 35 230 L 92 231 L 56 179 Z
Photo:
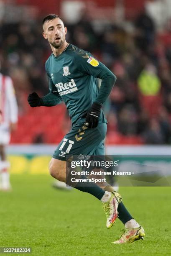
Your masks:
M 111 197 L 108 202 L 103 203 L 102 207 L 105 211 L 107 222 L 106 227 L 111 228 L 116 218 L 118 217 L 117 207 L 122 201 L 122 197 L 117 192 L 111 192 Z

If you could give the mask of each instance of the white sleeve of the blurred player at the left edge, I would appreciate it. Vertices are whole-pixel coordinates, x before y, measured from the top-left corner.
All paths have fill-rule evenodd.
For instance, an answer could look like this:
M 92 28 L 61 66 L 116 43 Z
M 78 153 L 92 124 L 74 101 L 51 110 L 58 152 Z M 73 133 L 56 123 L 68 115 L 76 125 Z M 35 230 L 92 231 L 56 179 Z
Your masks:
M 7 83 L 7 99 L 10 109 L 10 122 L 11 123 L 17 123 L 18 121 L 18 105 L 17 100 L 15 96 L 15 90 L 13 87 L 13 82 L 10 77 L 6 78 Z

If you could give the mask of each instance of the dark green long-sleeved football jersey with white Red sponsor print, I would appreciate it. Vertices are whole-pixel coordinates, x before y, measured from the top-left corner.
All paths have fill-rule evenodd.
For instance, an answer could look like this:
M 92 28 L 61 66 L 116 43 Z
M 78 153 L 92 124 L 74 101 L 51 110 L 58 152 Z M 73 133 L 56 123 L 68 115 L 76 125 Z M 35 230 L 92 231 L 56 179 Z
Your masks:
M 69 110 L 72 125 L 83 122 L 82 115 L 94 101 L 104 103 L 109 95 L 109 88 L 103 87 L 101 95 L 96 77 L 110 83 L 110 90 L 115 76 L 104 64 L 94 59 L 92 54 L 69 44 L 62 54 L 54 54 L 46 61 L 50 94 L 42 97 L 43 105 L 56 105 L 65 102 Z M 105 95 L 104 95 L 105 94 Z M 107 95 L 106 95 L 107 94 Z M 48 98 L 49 97 L 49 98 Z M 99 123 L 107 122 L 101 111 Z

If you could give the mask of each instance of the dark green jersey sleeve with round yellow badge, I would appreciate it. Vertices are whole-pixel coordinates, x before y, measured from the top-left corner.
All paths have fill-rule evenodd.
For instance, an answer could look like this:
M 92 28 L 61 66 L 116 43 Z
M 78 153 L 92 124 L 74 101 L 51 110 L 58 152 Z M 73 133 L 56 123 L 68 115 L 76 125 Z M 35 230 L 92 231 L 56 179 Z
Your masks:
M 78 70 L 83 74 L 102 79 L 99 94 L 95 101 L 103 104 L 115 84 L 115 75 L 102 62 L 95 59 L 92 54 L 83 50 L 75 54 L 75 63 L 78 63 Z

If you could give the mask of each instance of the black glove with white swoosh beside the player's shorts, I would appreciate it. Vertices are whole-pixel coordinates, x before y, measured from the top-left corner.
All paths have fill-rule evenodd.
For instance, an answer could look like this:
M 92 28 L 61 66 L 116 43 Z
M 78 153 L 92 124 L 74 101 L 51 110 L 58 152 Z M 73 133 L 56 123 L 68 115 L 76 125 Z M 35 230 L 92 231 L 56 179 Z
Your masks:
M 100 103 L 94 102 L 92 107 L 82 116 L 86 118 L 84 123 L 88 128 L 96 128 L 99 123 L 99 117 L 101 113 L 102 105 Z

